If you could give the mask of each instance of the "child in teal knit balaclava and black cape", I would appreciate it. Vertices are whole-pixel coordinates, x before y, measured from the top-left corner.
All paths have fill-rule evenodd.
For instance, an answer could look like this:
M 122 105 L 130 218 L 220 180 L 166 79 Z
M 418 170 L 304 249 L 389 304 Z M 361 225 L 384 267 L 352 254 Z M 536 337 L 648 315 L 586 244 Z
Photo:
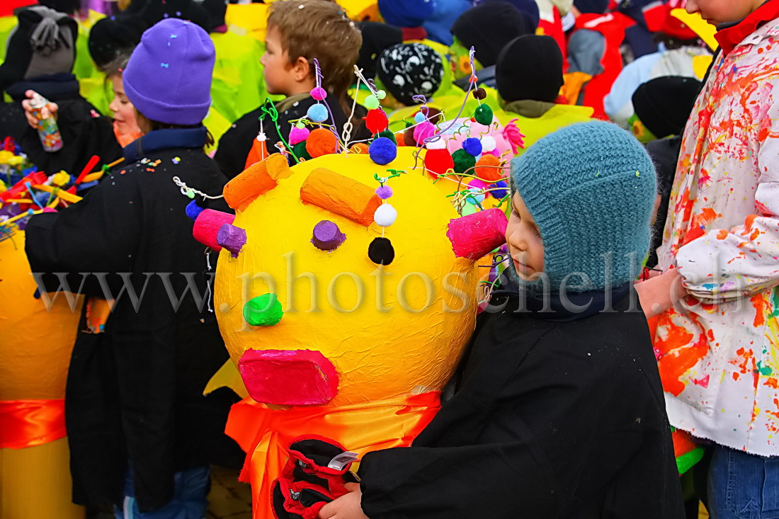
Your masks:
M 515 159 L 510 281 L 478 322 L 456 393 L 411 447 L 366 454 L 359 487 L 319 517 L 684 517 L 632 288 L 655 182 L 640 143 L 605 122 Z

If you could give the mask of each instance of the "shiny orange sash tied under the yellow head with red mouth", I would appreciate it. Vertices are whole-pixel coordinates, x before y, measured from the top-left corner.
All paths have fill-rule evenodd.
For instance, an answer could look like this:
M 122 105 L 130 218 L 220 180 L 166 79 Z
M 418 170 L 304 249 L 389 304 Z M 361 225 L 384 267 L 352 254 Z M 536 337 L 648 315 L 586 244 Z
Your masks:
M 225 432 L 247 453 L 239 479 L 252 484 L 252 518 L 273 519 L 271 483 L 281 474 L 285 447 L 296 436 L 319 434 L 362 456 L 407 447 L 440 408 L 438 391 L 341 407 L 275 410 L 251 398 L 234 404 Z

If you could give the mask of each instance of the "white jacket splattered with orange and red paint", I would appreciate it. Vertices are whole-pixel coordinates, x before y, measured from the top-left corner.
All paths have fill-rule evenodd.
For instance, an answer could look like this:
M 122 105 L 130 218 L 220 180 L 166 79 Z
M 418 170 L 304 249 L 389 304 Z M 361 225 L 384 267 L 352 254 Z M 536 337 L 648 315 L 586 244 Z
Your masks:
M 682 142 L 664 245 L 694 298 L 655 338 L 671 424 L 779 455 L 779 19 L 714 63 Z

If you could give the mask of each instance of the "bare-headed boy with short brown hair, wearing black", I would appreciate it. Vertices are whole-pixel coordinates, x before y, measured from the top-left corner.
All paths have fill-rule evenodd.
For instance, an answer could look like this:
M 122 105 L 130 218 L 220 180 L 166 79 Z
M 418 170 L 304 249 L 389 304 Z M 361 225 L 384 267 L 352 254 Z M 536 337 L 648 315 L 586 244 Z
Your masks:
M 352 71 L 362 44 L 360 31 L 344 9 L 334 2 L 273 2 L 265 44 L 260 61 L 268 94 L 286 96 L 275 104 L 277 125 L 267 115 L 263 119 L 262 132 L 269 153 L 279 150 L 277 143 L 282 139 L 288 143 L 290 121 L 305 117 L 308 108 L 317 102 L 311 97 L 317 84 L 314 58 L 322 69 L 322 87 L 328 94 L 325 101 L 332 111 L 332 119 L 325 123 L 342 127 L 350 109 L 347 90 L 354 79 Z M 252 143 L 261 131 L 259 118 L 263 118 L 263 107 L 238 119 L 220 139 L 214 160 L 227 178 L 245 169 Z

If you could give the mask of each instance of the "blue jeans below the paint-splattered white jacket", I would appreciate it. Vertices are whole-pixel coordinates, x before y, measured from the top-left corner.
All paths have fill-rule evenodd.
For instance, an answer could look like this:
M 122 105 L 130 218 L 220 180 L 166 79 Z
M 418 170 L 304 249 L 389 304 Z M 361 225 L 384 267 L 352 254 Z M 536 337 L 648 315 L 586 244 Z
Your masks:
M 779 457 L 713 448 L 708 482 L 711 519 L 779 519 Z

